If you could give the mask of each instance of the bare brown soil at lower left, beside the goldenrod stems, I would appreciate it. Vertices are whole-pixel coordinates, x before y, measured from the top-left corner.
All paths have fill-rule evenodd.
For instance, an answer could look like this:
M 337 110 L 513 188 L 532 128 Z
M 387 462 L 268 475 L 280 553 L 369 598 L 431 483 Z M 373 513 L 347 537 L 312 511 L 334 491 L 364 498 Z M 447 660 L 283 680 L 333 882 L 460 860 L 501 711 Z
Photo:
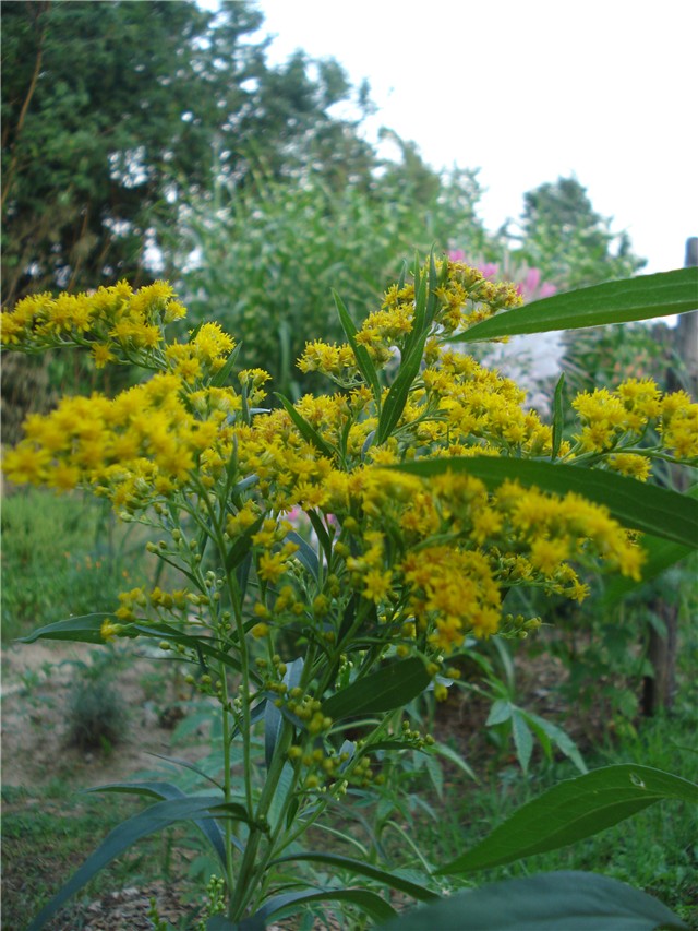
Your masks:
M 2 650 L 2 785 L 40 790 L 57 780 L 81 789 L 128 781 L 134 773 L 153 769 L 152 753 L 184 756 L 191 761 L 205 745 L 172 749 L 177 678 L 155 667 L 151 658 L 123 665 L 116 678 L 128 706 L 124 738 L 109 752 L 80 750 L 68 740 L 65 707 L 73 681 L 95 656 L 95 647 L 57 642 L 13 645 Z M 84 675 L 84 673 L 83 673 Z M 203 742 L 205 744 L 205 742 Z M 5 807 L 5 811 L 8 807 Z M 3 895 L 12 894 L 13 874 L 5 871 Z M 10 887 L 8 887 L 10 886 Z M 155 897 L 161 917 L 172 922 L 189 910 L 164 883 L 108 892 L 72 915 L 70 923 L 55 922 L 51 931 L 135 931 L 152 928 L 147 918 Z M 11 924 L 3 922 L 7 931 Z M 16 928 L 16 931 L 23 929 Z

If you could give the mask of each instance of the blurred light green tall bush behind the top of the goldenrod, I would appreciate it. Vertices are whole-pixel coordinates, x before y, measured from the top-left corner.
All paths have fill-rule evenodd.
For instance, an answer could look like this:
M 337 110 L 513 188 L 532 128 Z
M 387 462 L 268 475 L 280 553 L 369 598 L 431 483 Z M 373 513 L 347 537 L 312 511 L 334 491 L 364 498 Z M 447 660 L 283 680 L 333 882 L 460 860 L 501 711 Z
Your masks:
M 417 158 L 339 190 L 316 169 L 302 183 L 265 170 L 254 183 L 218 183 L 189 198 L 179 225 L 161 232 L 184 270 L 178 289 L 188 320 L 218 320 L 242 342 L 245 366 L 270 372 L 284 394 L 314 386 L 294 360 L 308 341 L 345 337 L 333 288 L 356 314 L 378 305 L 398 277 L 396 255 L 434 243 L 445 250 L 456 232 L 473 251 L 483 248 L 474 176 L 440 178 L 421 163 L 432 183 L 420 190 Z

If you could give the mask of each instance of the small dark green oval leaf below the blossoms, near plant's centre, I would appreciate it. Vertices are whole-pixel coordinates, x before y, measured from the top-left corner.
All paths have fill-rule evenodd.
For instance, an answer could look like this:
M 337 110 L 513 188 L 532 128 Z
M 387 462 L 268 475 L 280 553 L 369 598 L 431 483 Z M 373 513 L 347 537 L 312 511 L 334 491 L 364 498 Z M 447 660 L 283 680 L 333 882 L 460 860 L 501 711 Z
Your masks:
M 333 720 L 389 712 L 420 695 L 431 679 L 418 656 L 393 663 L 371 676 L 354 680 L 323 702 L 323 714 Z

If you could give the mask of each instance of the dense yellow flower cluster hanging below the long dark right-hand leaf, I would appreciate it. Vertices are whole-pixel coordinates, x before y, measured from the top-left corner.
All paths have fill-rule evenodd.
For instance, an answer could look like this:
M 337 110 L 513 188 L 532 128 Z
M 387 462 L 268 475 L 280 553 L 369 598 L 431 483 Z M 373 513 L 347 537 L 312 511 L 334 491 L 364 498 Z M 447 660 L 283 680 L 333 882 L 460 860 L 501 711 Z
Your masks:
M 605 509 L 579 496 L 516 482 L 490 493 L 479 479 L 455 473 L 426 480 L 368 467 L 359 476 L 349 506 L 361 517 L 353 533 L 361 551 L 346 563 L 353 584 L 376 604 L 406 594 L 393 622 L 416 619 L 445 653 L 468 632 L 496 632 L 501 587 L 535 585 L 582 600 L 587 588 L 571 563 L 599 556 L 639 578 L 642 550 Z M 352 536 L 352 524 L 344 526 Z

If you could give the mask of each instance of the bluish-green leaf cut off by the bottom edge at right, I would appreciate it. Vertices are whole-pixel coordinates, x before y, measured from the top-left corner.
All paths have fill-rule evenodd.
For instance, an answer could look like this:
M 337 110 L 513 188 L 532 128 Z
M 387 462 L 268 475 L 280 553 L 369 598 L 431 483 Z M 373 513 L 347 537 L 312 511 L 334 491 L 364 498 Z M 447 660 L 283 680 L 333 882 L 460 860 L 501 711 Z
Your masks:
M 595 873 L 565 871 L 491 883 L 418 908 L 376 931 L 687 931 L 665 905 Z

